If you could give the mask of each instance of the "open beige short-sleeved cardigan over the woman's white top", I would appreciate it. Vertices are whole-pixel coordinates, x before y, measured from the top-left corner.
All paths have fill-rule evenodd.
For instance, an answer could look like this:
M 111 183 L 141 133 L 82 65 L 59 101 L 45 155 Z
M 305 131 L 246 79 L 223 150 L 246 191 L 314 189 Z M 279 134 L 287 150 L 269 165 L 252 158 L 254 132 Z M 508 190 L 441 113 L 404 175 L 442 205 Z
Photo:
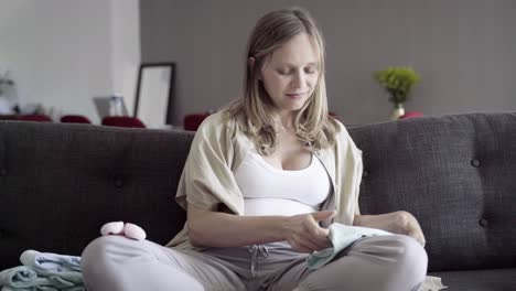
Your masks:
M 362 179 L 362 152 L 340 123 L 336 143 L 315 152 L 332 180 L 333 192 L 323 209 L 336 209 L 334 222 L 352 225 L 358 211 L 358 190 Z M 252 141 L 239 129 L 235 118 L 224 111 L 206 118 L 198 128 L 178 186 L 175 201 L 184 209 L 187 204 L 235 215 L 244 213 L 244 196 L 234 173 Z M 333 222 L 333 220 L 332 220 Z M 324 222 L 323 226 L 332 222 Z M 166 246 L 200 249 L 190 244 L 187 222 Z

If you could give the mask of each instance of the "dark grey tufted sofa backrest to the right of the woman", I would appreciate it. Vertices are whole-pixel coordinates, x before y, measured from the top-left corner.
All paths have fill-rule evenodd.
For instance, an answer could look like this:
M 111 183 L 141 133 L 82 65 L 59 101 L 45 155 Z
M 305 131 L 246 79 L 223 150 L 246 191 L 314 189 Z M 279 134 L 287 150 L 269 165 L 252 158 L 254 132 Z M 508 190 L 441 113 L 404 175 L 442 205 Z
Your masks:
M 516 267 L 516 114 L 421 117 L 350 129 L 365 214 L 408 211 L 430 270 Z

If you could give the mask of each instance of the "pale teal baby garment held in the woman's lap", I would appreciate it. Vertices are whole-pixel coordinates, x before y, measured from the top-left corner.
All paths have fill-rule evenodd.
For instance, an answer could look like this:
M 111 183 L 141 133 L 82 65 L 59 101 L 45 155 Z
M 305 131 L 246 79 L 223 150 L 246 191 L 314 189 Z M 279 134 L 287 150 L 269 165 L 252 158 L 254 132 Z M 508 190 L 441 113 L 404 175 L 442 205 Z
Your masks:
M 381 229 L 348 226 L 337 223 L 330 225 L 329 230 L 329 238 L 332 242 L 332 247 L 315 251 L 307 257 L 308 268 L 311 270 L 319 269 L 329 263 L 341 250 L 347 248 L 357 239 L 363 237 L 391 235 L 390 233 Z

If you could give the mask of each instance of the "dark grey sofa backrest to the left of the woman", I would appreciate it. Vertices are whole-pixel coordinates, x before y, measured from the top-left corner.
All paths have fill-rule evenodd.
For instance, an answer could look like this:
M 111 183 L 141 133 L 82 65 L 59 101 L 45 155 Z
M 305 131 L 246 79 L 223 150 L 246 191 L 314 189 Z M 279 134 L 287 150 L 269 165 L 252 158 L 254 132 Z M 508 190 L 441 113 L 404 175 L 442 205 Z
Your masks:
M 0 270 L 23 250 L 79 256 L 106 222 L 166 244 L 192 132 L 0 121 Z

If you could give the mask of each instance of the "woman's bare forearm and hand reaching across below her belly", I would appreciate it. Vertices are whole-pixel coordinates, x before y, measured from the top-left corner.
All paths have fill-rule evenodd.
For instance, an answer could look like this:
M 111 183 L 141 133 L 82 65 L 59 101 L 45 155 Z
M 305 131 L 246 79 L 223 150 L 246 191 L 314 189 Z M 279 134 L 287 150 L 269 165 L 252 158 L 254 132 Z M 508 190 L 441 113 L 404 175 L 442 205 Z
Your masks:
M 190 241 L 198 247 L 240 247 L 287 240 L 294 250 L 312 252 L 330 244 L 327 229 L 318 222 L 333 212 L 294 216 L 238 216 L 189 204 Z

